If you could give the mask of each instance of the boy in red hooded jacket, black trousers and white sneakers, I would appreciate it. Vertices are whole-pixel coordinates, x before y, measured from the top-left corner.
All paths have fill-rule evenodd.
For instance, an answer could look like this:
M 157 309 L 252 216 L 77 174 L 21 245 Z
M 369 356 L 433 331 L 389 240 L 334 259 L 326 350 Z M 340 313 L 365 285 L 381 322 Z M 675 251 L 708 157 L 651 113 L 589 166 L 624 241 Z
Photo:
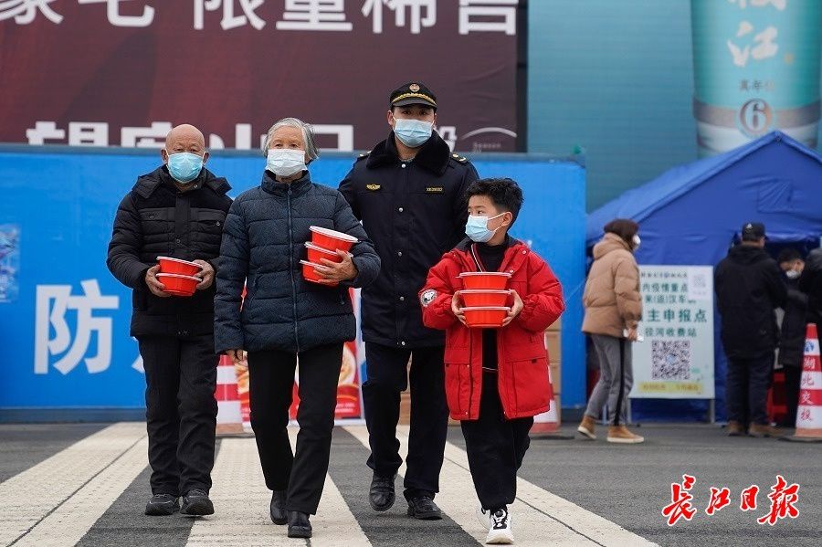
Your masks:
M 419 292 L 423 322 L 446 331 L 446 396 L 460 420 L 480 521 L 487 543 L 511 543 L 517 470 L 528 449 L 533 416 L 548 410 L 551 389 L 543 331 L 564 310 L 562 287 L 536 253 L 508 235 L 522 207 L 511 179 L 483 179 L 466 192 L 469 236 L 428 272 Z M 499 329 L 466 326 L 458 275 L 511 274 L 511 310 Z

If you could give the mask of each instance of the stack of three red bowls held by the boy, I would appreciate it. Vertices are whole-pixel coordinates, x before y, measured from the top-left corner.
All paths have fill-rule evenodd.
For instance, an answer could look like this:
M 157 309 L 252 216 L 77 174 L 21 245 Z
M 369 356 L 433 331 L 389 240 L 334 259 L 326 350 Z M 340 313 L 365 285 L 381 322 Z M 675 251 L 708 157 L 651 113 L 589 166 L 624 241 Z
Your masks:
M 465 305 L 465 323 L 472 329 L 499 329 L 508 316 L 511 274 L 500 271 L 466 271 L 459 274 L 465 289 L 458 291 Z

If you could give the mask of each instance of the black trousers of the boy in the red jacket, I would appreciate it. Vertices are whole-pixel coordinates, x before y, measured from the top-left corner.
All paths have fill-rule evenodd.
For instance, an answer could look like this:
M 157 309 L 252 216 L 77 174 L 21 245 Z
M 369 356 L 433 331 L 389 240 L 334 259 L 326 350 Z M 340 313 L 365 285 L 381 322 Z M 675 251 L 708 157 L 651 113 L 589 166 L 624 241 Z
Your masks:
M 482 507 L 497 510 L 517 496 L 517 471 L 531 444 L 533 418 L 508 420 L 502 414 L 497 373 L 482 374 L 479 420 L 463 420 L 471 479 Z

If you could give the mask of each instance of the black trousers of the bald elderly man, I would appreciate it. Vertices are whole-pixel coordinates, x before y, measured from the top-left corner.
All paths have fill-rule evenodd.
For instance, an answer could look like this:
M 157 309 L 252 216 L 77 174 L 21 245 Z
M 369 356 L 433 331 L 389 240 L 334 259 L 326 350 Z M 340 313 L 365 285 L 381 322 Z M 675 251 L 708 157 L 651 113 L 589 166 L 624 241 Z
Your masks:
M 217 356 L 211 334 L 139 339 L 152 493 L 211 489 L 217 405 Z

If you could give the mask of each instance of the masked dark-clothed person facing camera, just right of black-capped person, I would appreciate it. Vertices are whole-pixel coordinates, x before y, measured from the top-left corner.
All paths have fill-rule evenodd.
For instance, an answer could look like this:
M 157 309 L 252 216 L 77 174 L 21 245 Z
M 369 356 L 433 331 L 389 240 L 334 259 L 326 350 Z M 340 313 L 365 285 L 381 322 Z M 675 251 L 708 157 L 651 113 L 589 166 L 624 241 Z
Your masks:
M 799 290 L 799 279 L 805 270 L 805 260 L 795 248 L 786 248 L 776 258 L 779 268 L 785 272 L 787 300 L 779 337 L 778 363 L 785 372 L 785 422 L 783 426 L 796 426 L 796 407 L 799 405 L 799 382 L 802 363 L 805 360 L 805 336 L 807 325 L 807 295 Z

